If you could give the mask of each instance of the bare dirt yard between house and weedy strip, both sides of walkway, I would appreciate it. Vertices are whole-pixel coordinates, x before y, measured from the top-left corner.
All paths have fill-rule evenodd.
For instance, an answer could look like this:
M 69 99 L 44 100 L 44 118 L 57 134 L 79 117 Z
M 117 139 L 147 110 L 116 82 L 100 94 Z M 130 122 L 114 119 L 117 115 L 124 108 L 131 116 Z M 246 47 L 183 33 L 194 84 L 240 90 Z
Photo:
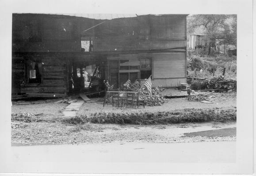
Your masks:
M 113 107 L 111 104 L 103 107 L 104 98 L 91 98 L 91 102 L 84 103 L 80 110 L 77 112 L 78 115 L 88 115 L 99 112 L 115 112 L 115 113 L 126 113 L 126 112 L 158 112 L 168 110 L 182 110 L 185 108 L 235 108 L 237 106 L 236 93 L 214 93 L 215 97 L 211 98 L 213 103 L 201 103 L 197 101 L 188 101 L 187 98 L 172 98 L 167 99 L 168 102 L 162 106 L 145 106 L 136 108 L 118 108 Z M 73 97 L 73 99 L 80 99 L 80 97 Z M 48 114 L 61 116 L 62 111 L 68 104 L 66 103 L 54 103 L 61 99 L 50 99 L 50 100 L 37 100 L 37 101 L 25 101 L 26 105 L 17 105 L 19 102 L 13 102 L 11 107 L 11 113 L 34 113 L 34 114 Z M 24 101 L 22 101 L 23 103 Z

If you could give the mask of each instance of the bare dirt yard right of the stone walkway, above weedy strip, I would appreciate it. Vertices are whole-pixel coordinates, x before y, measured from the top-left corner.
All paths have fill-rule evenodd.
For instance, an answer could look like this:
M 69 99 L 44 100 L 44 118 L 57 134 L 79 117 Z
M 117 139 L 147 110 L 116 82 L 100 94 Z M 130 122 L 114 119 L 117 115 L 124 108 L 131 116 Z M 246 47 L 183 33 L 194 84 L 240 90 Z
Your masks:
M 235 108 L 237 106 L 236 94 L 226 94 L 226 93 L 214 93 L 215 97 L 211 98 L 213 103 L 201 103 L 197 101 L 188 101 L 187 98 L 172 98 L 168 99 L 168 102 L 164 103 L 162 106 L 145 106 L 135 108 L 117 108 L 113 107 L 111 104 L 103 107 L 102 98 L 92 98 L 91 103 L 84 103 L 78 115 L 88 115 L 92 113 L 130 113 L 130 112 L 158 112 L 158 111 L 170 111 L 170 110 L 182 110 L 186 108 Z

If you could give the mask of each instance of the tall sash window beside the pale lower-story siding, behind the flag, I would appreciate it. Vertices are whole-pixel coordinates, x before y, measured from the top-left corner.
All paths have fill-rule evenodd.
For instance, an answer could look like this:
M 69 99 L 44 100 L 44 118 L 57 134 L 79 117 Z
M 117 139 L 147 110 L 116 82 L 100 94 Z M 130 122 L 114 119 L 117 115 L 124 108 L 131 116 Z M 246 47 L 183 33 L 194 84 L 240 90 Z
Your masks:
M 140 59 L 140 79 L 148 79 L 152 75 L 152 59 Z

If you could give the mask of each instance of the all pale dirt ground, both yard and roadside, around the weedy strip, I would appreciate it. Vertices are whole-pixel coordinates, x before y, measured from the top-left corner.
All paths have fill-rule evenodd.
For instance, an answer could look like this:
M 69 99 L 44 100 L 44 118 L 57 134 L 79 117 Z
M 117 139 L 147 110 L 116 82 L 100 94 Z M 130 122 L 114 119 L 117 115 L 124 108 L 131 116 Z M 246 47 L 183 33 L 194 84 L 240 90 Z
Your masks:
M 139 109 L 117 108 L 112 105 L 103 107 L 103 98 L 91 98 L 91 103 L 84 103 L 78 115 L 88 115 L 99 112 L 159 112 L 182 110 L 185 108 L 236 108 L 236 94 L 214 93 L 211 100 L 214 103 L 189 102 L 186 98 L 168 99 L 162 106 L 145 106 Z M 78 97 L 75 97 L 78 98 Z M 39 100 L 29 102 L 13 102 L 11 113 L 43 114 L 44 118 L 63 116 L 63 110 L 68 104 L 54 103 L 60 99 Z M 17 105 L 17 104 L 23 105 Z M 30 103 L 30 104 L 28 104 Z M 12 122 L 13 124 L 14 122 Z M 236 135 L 229 136 L 184 136 L 184 133 L 199 132 L 212 129 L 235 128 L 236 122 L 229 121 L 207 123 L 184 123 L 170 125 L 115 125 L 91 124 L 70 125 L 60 122 L 22 122 L 18 128 L 11 130 L 13 145 L 34 144 L 79 144 L 79 143 L 176 143 L 199 141 L 230 141 L 236 140 Z

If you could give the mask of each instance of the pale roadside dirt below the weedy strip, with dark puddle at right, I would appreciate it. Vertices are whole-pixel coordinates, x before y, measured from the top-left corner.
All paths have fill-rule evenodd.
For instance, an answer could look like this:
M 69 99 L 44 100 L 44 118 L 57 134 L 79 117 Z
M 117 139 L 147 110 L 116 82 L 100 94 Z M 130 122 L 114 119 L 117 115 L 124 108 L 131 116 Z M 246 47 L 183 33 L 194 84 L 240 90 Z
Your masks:
M 33 122 L 26 127 L 12 129 L 11 141 L 12 145 L 233 141 L 236 140 L 236 133 L 217 136 L 184 136 L 184 133 L 235 127 L 235 122 L 173 125 L 86 124 L 83 126 Z

